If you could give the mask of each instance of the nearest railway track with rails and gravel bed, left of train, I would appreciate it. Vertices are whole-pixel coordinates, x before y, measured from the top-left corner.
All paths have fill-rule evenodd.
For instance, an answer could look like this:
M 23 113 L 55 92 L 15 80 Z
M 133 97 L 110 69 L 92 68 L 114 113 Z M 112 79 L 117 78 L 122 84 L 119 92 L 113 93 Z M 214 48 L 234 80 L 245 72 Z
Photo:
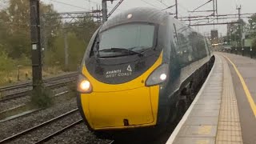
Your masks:
M 68 107 L 68 106 L 65 106 L 65 107 Z M 41 113 L 41 114 L 38 114 L 38 113 Z M 10 125 L 12 123 L 14 125 L 8 126 L 9 128 L 7 132 L 2 131 L 2 134 L 4 134 L 4 136 L 0 138 L 0 144 L 2 143 L 14 143 L 14 144 L 15 143 L 44 143 L 44 142 L 46 143 L 99 142 L 99 143 L 105 143 L 105 144 L 112 143 L 110 142 L 110 140 L 102 140 L 102 139 L 92 137 L 92 134 L 89 133 L 88 130 L 86 130 L 86 126 L 82 122 L 82 118 L 78 113 L 78 109 L 76 109 L 75 106 L 72 109 L 62 111 L 62 113 L 54 114 L 48 118 L 43 118 L 44 116 L 42 117 L 42 114 L 46 116 L 46 115 L 50 115 L 51 112 L 50 111 L 46 112 L 42 110 L 37 112 L 37 114 L 30 114 L 30 116 L 18 119 L 17 121 L 6 122 L 7 125 Z M 20 125 L 18 124 L 19 122 L 22 122 L 22 125 L 25 125 L 25 126 L 22 126 L 22 128 L 18 128 L 18 126 Z M 15 130 L 9 131 L 9 129 L 12 129 L 12 128 L 14 128 Z

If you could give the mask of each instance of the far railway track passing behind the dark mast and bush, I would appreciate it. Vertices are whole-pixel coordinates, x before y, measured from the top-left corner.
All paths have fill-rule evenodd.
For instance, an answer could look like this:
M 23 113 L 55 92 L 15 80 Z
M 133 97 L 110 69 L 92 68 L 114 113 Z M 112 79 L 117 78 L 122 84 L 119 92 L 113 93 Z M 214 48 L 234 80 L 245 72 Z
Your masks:
M 77 72 L 64 74 L 58 77 L 46 78 L 43 82 L 47 88 L 54 89 L 61 86 L 66 86 L 66 83 L 74 81 L 75 78 L 77 78 L 77 75 Z M 26 82 L 14 86 L 0 87 L 0 102 L 6 102 L 14 98 L 23 97 L 27 94 L 30 94 L 31 90 L 31 82 Z

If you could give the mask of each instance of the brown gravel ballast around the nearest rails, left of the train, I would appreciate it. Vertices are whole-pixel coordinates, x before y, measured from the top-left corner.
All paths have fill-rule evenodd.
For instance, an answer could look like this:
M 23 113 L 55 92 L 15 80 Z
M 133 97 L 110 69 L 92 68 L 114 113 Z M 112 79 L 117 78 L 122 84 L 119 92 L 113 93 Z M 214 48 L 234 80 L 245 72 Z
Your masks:
M 56 98 L 56 104 L 46 110 L 40 110 L 34 114 L 28 114 L 21 118 L 15 118 L 7 122 L 0 123 L 0 139 L 10 137 L 11 135 L 18 134 L 23 130 L 30 127 L 37 126 L 42 122 L 46 122 L 52 118 L 58 117 L 70 110 L 77 108 L 76 98 L 71 98 L 66 101 L 62 96 Z M 80 114 L 76 112 L 66 118 L 53 122 L 48 126 L 43 126 L 39 130 L 33 131 L 31 134 L 26 134 L 11 143 L 33 143 L 40 140 L 42 137 L 47 136 L 50 133 L 54 133 L 55 130 L 60 130 L 67 124 L 71 124 L 81 119 Z M 57 123 L 57 124 L 56 124 Z M 31 140 L 32 139 L 32 140 Z M 98 139 L 94 134 L 90 133 L 86 125 L 82 122 L 70 129 L 64 131 L 62 134 L 51 139 L 46 143 L 92 143 L 92 144 L 105 144 L 110 143 L 110 140 Z

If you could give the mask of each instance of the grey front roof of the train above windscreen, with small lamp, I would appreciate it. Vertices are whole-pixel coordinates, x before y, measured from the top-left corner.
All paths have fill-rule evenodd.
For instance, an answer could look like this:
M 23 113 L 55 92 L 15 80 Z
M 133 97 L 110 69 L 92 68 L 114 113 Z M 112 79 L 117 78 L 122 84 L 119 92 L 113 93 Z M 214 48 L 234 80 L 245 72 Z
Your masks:
M 128 16 L 130 15 L 130 16 Z M 106 30 L 112 26 L 117 26 L 122 23 L 128 22 L 150 22 L 160 24 L 164 18 L 167 18 L 169 14 L 162 12 L 161 10 L 147 7 L 137 7 L 130 10 L 123 11 L 113 18 L 110 18 L 102 25 L 101 31 Z

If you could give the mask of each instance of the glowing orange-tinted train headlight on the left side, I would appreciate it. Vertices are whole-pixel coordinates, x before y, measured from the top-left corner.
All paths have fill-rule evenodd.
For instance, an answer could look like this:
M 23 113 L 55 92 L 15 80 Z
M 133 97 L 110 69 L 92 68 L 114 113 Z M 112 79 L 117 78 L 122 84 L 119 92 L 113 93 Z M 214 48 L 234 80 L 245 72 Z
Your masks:
M 78 92 L 85 93 L 85 94 L 88 94 L 88 93 L 92 92 L 92 86 L 91 86 L 90 82 L 82 74 L 79 74 L 79 76 L 78 76 L 77 90 L 78 90 Z

